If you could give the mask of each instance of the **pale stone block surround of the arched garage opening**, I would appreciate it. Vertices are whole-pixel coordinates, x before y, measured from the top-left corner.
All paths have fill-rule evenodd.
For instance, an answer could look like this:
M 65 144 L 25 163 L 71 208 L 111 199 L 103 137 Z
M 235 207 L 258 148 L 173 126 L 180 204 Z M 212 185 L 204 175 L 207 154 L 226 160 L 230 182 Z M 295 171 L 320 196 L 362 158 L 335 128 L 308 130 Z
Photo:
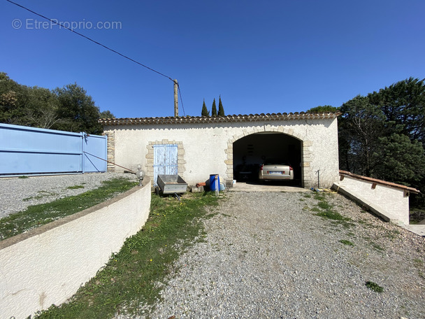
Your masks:
M 227 149 L 226 149 L 226 179 L 231 186 L 231 180 L 233 180 L 233 144 L 240 139 L 243 139 L 247 136 L 253 134 L 285 134 L 291 138 L 294 138 L 299 143 L 299 153 L 301 157 L 300 170 L 301 170 L 301 186 L 310 185 L 310 179 L 308 176 L 311 176 L 310 172 L 310 162 L 311 162 L 311 141 L 303 140 L 303 136 L 294 132 L 294 129 L 287 127 L 270 127 L 268 129 L 264 129 L 264 127 L 252 127 L 243 129 L 243 132 L 240 134 L 235 134 L 228 140 Z M 237 159 L 236 159 L 237 160 Z

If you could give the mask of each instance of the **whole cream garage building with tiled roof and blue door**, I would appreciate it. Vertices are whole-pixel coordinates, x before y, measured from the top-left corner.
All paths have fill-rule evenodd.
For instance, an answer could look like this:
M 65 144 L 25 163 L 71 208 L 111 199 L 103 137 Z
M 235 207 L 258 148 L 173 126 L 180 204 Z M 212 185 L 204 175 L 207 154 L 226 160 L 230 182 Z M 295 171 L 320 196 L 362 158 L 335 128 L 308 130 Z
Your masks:
M 102 119 L 108 160 L 138 165 L 156 183 L 159 173 L 178 173 L 189 185 L 210 174 L 231 187 L 254 180 L 266 158 L 294 168 L 297 185 L 331 187 L 338 180 L 339 113 L 273 113 L 224 117 Z M 123 171 L 110 164 L 109 171 Z M 319 174 L 319 176 L 318 176 Z

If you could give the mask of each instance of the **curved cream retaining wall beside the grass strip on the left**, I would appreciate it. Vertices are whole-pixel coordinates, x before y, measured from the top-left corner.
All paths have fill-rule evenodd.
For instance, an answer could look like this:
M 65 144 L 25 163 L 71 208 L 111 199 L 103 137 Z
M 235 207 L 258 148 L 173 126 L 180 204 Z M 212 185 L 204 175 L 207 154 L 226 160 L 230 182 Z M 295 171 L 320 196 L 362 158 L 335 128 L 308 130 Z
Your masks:
M 0 241 L 0 317 L 27 318 L 62 304 L 145 224 L 150 180 L 142 187 L 27 233 Z

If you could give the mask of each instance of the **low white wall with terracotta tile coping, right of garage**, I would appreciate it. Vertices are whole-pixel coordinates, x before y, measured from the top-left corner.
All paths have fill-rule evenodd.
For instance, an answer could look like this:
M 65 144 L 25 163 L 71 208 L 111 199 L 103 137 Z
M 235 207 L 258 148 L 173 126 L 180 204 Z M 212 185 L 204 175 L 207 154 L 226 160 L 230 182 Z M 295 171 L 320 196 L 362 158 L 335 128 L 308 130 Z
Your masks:
M 387 222 L 409 225 L 409 194 L 419 192 L 411 187 L 388 183 L 340 171 L 333 189 L 366 206 Z

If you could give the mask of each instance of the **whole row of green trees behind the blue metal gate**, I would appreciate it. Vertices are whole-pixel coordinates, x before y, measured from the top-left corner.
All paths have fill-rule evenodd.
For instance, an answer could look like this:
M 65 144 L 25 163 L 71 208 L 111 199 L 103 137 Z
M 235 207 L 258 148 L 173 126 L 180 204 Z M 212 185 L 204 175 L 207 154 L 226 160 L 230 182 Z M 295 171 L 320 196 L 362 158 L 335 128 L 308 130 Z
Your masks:
M 99 134 L 101 116 L 115 118 L 110 111 L 99 113 L 92 97 L 76 83 L 55 90 L 27 87 L 0 72 L 0 122 Z

